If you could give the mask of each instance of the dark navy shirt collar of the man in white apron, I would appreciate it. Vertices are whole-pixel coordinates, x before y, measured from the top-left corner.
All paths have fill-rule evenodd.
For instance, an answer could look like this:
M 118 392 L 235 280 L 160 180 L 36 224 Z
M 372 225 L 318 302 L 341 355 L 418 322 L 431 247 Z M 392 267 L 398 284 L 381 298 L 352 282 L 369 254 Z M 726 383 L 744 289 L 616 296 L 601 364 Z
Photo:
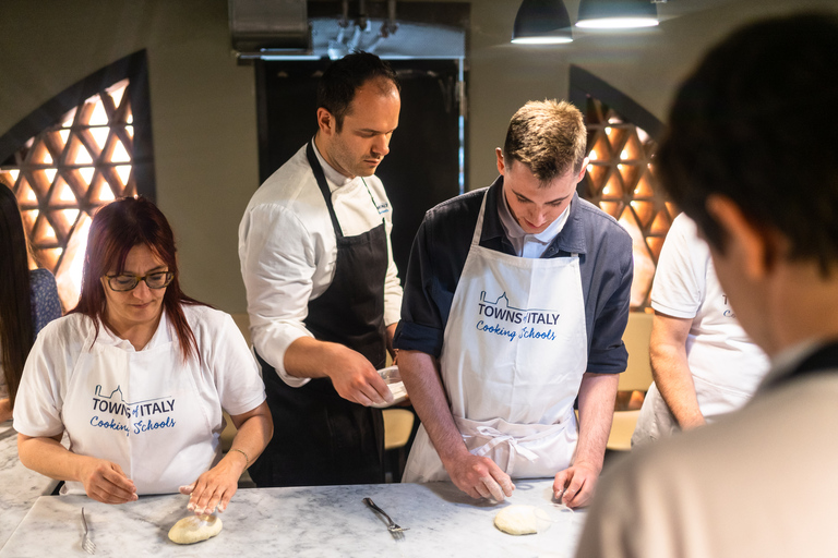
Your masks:
M 501 217 L 498 213 L 498 196 L 503 193 L 503 175 L 489 186 L 486 193 L 486 207 L 483 213 L 483 230 L 480 233 L 480 244 L 484 245 L 491 243 L 495 239 L 500 239 L 501 242 L 506 242 L 511 245 L 506 232 L 501 223 Z M 573 193 L 573 199 L 571 199 L 571 207 L 567 211 L 567 220 L 562 227 L 562 230 L 550 242 L 550 245 L 544 250 L 541 257 L 552 257 L 559 252 L 565 252 L 568 254 L 585 254 L 587 253 L 585 243 L 585 225 L 582 221 L 580 208 L 582 201 L 576 192 Z

